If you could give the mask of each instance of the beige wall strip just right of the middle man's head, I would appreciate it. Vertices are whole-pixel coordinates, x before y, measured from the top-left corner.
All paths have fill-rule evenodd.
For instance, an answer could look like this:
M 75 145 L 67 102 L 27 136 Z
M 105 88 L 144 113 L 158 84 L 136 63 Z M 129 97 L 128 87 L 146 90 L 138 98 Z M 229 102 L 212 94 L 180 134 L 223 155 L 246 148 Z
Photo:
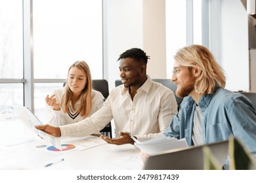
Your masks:
M 143 45 L 150 56 L 148 75 L 166 78 L 165 0 L 143 1 Z

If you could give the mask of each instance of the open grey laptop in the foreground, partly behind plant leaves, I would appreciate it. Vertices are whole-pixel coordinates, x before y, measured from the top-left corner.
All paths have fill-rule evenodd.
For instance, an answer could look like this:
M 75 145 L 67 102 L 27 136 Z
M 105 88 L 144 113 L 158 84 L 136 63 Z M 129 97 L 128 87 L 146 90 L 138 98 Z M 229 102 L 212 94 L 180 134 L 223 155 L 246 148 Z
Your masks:
M 203 146 L 208 146 L 221 165 L 228 156 L 228 141 L 189 146 L 149 156 L 144 170 L 203 170 Z

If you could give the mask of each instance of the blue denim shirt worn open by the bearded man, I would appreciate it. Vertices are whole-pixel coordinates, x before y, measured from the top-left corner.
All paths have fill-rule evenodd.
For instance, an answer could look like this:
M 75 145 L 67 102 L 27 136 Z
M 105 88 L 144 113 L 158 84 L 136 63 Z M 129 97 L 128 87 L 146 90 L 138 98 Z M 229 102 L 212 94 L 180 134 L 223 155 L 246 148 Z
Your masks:
M 231 135 L 256 154 L 256 112 L 241 93 L 216 88 L 215 93 L 203 95 L 199 104 L 202 109 L 202 135 L 205 144 L 228 140 Z M 196 103 L 192 97 L 184 97 L 179 113 L 173 117 L 165 135 L 186 138 L 189 146 L 192 142 L 193 118 Z

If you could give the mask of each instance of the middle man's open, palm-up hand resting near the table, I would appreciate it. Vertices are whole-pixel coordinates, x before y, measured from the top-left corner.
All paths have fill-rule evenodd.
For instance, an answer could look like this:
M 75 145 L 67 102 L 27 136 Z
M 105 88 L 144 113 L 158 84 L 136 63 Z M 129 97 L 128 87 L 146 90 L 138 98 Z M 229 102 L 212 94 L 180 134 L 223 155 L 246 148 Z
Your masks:
M 106 141 L 108 144 L 116 144 L 116 145 L 122 145 L 122 144 L 134 144 L 133 139 L 131 139 L 129 133 L 121 132 L 118 133 L 119 137 L 116 139 L 110 139 L 106 137 L 105 135 L 100 135 L 100 137 Z

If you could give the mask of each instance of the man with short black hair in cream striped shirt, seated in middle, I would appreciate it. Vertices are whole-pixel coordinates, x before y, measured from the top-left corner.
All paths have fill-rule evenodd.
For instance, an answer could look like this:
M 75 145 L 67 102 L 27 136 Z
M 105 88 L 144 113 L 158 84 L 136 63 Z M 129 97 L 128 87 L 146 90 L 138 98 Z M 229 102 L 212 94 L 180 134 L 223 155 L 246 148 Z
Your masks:
M 146 75 L 149 56 L 140 48 L 131 48 L 119 56 L 121 82 L 95 114 L 76 124 L 52 127 L 37 126 L 55 137 L 81 137 L 100 131 L 114 119 L 119 137 L 102 139 L 110 144 L 133 144 L 130 135 L 146 141 L 163 134 L 169 122 L 177 114 L 177 102 L 173 91 Z

